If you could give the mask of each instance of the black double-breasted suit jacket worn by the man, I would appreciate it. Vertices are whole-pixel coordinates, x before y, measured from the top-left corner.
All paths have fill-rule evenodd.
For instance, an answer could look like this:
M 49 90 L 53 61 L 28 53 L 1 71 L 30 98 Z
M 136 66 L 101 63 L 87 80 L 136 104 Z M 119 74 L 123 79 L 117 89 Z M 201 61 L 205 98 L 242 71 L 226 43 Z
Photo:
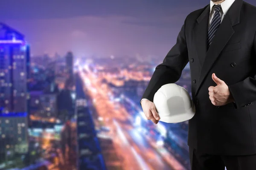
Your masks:
M 256 153 L 256 7 L 235 0 L 207 50 L 210 5 L 191 12 L 177 43 L 157 65 L 141 99 L 153 102 L 164 84 L 175 83 L 189 62 L 195 116 L 188 145 L 209 154 Z M 212 105 L 212 73 L 227 83 L 235 103 Z

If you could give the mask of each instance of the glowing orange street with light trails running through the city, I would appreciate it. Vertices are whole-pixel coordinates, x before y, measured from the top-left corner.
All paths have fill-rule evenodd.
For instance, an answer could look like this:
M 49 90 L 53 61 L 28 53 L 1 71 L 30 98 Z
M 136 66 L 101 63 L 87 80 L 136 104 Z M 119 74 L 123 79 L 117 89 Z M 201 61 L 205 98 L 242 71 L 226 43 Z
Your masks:
M 148 139 L 137 130 L 132 121 L 134 118 L 119 102 L 109 99 L 111 90 L 102 85 L 101 79 L 85 68 L 80 68 L 80 76 L 84 80 L 84 89 L 89 91 L 93 99 L 93 107 L 106 127 L 110 127 L 109 136 L 113 139 L 116 151 L 122 157 L 122 167 L 127 170 L 185 170 L 172 155 L 157 147 L 156 141 Z

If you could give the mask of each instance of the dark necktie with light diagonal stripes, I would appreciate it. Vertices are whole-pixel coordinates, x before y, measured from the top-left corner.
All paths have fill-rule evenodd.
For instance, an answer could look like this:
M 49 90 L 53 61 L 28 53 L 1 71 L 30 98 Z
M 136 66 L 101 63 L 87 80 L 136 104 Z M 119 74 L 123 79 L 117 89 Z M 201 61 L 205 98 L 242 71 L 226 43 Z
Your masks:
M 214 9 L 215 13 L 208 28 L 207 49 L 211 45 L 215 32 L 218 30 L 218 27 L 221 24 L 221 5 L 214 5 L 212 8 Z

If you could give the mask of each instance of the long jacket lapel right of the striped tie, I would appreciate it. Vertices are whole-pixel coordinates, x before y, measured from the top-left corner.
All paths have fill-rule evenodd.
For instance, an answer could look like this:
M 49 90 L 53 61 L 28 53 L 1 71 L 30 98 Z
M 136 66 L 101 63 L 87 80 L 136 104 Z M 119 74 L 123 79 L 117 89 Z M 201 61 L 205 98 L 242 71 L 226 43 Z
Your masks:
M 230 37 L 234 34 L 235 31 L 233 30 L 233 26 L 239 23 L 242 2 L 242 0 L 236 0 L 232 4 L 224 19 L 222 20 L 218 30 L 215 32 L 215 36 L 212 39 L 212 44 L 210 45 L 205 55 L 206 57 L 201 67 L 195 96 L 198 94 L 199 88 L 201 87 L 204 79 L 212 68 L 212 65 L 219 57 L 222 49 L 230 40 Z

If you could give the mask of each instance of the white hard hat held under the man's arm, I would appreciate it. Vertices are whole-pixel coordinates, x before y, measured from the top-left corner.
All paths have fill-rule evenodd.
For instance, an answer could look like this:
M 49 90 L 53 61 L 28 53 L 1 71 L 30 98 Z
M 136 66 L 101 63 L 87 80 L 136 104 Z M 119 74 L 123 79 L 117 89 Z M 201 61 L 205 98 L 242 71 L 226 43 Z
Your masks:
M 159 88 L 154 94 L 153 103 L 162 122 L 184 122 L 195 115 L 195 105 L 189 93 L 175 83 L 169 83 Z

